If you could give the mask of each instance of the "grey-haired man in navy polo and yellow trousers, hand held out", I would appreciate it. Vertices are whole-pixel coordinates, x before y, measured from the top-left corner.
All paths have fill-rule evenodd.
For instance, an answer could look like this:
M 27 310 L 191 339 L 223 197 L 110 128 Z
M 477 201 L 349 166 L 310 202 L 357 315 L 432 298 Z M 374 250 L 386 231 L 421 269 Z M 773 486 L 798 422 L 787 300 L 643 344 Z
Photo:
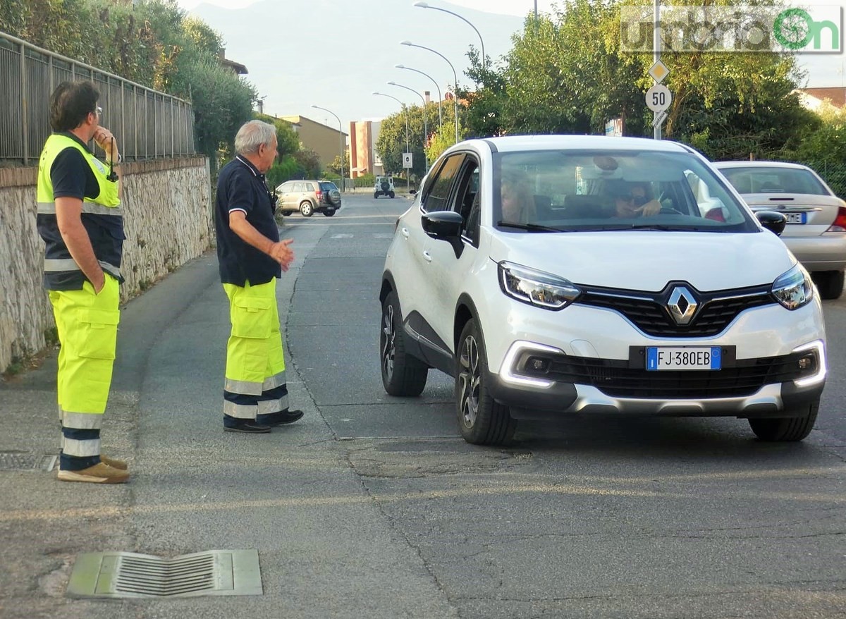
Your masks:
M 235 136 L 237 156 L 217 177 L 217 260 L 229 299 L 223 430 L 263 434 L 303 416 L 288 408 L 276 281 L 294 260 L 279 240 L 276 194 L 265 173 L 277 154 L 276 128 L 251 120 Z

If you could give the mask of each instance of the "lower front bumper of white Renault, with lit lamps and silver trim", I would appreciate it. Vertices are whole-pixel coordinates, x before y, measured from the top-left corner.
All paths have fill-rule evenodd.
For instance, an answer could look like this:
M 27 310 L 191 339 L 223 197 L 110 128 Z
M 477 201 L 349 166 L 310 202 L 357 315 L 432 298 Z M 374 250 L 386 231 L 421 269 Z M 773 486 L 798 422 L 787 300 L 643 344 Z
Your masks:
M 515 419 L 564 414 L 756 418 L 783 417 L 786 411 L 790 416 L 789 411 L 819 399 L 827 372 L 822 342 L 780 357 L 729 359 L 722 370 L 675 372 L 644 370 L 633 360 L 557 355 L 536 346 L 515 342 L 503 374 L 488 376 L 493 396 Z M 634 359 L 636 348 L 632 351 Z M 545 353 L 552 359 L 546 370 L 523 371 L 527 359 Z M 801 359 L 812 359 L 805 370 L 799 370 Z

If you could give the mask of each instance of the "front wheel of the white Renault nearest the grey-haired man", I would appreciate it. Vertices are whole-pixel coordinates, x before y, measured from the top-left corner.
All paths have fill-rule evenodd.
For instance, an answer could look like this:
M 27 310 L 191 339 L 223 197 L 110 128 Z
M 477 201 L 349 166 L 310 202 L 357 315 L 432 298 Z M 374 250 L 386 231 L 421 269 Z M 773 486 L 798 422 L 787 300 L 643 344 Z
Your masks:
M 468 320 L 455 355 L 455 413 L 464 441 L 474 445 L 508 445 L 517 421 L 497 403 L 487 384 L 487 357 L 481 330 Z

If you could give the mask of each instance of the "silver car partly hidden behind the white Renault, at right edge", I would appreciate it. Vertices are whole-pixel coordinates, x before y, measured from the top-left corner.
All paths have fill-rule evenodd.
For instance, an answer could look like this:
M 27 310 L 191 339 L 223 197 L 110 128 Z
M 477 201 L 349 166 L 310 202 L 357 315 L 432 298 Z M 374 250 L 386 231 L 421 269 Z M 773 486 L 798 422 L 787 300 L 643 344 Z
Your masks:
M 810 167 L 785 162 L 716 162 L 753 211 L 788 219 L 782 239 L 810 271 L 822 299 L 843 293 L 846 202 Z

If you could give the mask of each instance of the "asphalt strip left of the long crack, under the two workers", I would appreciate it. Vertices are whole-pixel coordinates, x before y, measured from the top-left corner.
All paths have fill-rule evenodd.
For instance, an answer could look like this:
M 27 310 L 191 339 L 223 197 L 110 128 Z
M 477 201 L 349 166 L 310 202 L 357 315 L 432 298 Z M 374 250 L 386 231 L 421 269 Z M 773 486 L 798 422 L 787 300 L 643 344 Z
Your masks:
M 283 323 L 296 276 L 326 228 L 299 229 L 278 288 Z M 222 432 L 228 305 L 207 254 L 122 312 L 103 451 L 127 485 L 0 471 L 0 616 L 448 617 L 453 607 L 415 549 L 360 483 L 288 361 L 305 418 L 271 435 Z M 0 451 L 56 455 L 56 354 L 0 385 Z M 264 594 L 182 600 L 71 600 L 83 552 L 176 556 L 257 549 Z

